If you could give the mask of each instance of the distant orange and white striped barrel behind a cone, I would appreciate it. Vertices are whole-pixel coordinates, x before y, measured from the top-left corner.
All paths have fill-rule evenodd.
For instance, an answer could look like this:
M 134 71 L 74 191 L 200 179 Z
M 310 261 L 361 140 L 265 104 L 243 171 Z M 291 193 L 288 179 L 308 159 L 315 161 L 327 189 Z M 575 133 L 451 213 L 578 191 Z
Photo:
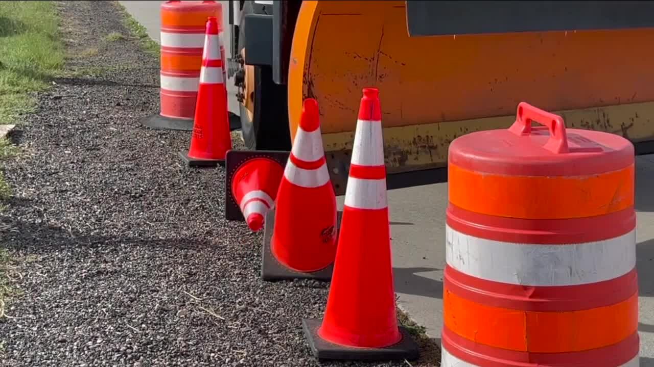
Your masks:
M 222 31 L 218 1 L 166 1 L 161 12 L 160 113 L 145 125 L 193 130 L 207 18 L 216 17 Z

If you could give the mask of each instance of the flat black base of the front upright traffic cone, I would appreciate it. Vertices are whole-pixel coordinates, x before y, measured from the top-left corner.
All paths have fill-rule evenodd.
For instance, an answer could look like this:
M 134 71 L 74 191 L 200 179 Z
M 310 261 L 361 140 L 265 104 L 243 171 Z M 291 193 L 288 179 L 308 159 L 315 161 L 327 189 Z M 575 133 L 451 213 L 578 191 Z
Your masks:
M 311 352 L 317 359 L 325 360 L 417 360 L 420 357 L 418 344 L 409 332 L 400 327 L 400 342 L 385 348 L 345 347 L 330 343 L 318 335 L 321 319 L 302 319 L 302 330 L 309 342 Z

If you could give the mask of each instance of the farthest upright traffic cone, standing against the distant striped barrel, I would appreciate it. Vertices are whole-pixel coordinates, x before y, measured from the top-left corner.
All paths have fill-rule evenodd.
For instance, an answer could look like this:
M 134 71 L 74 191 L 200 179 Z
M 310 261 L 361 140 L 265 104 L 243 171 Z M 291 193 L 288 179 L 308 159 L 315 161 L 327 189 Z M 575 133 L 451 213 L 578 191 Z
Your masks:
M 180 156 L 189 167 L 216 167 L 232 149 L 227 112 L 227 89 L 220 56 L 218 21 L 207 19 L 195 120 L 188 152 Z

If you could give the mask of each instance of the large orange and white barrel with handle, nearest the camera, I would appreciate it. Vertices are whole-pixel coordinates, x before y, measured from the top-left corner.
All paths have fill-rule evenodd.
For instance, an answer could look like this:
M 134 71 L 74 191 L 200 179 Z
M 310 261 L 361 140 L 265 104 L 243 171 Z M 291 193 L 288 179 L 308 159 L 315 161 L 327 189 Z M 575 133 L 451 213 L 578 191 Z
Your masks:
M 448 161 L 441 365 L 638 367 L 632 144 L 521 103 Z

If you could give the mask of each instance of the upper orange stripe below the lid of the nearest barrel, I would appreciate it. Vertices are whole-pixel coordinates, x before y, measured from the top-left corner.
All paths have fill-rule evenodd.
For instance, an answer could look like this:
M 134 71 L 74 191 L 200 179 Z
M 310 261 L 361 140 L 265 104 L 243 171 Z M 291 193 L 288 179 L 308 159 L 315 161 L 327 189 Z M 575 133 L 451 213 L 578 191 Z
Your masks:
M 449 200 L 471 212 L 526 219 L 610 214 L 634 204 L 634 165 L 589 176 L 506 176 L 448 168 Z

